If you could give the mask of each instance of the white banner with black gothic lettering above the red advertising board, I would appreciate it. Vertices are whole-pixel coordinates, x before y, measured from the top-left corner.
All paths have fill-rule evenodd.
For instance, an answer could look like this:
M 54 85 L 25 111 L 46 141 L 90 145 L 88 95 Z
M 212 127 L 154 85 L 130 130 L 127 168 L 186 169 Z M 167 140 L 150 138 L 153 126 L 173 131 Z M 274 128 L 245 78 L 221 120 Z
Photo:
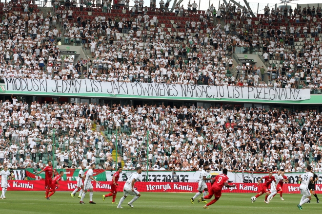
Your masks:
M 128 177 L 135 171 L 125 171 L 120 175 L 120 181 L 126 181 Z M 112 177 L 114 172 L 106 171 L 106 180 L 112 181 Z M 196 172 L 184 172 L 179 171 L 176 172 L 176 174 L 179 176 L 180 182 L 199 182 L 200 179 L 200 171 Z M 219 174 L 221 174 L 221 171 L 210 171 L 209 175 L 211 177 L 215 177 Z M 303 173 L 285 173 L 285 176 L 287 176 L 289 183 L 298 183 L 299 181 L 299 175 L 302 175 Z M 318 183 L 322 184 L 322 173 L 317 173 L 319 180 Z M 147 172 L 142 172 L 139 178 L 139 181 L 146 181 L 146 177 L 148 176 L 148 181 L 152 182 L 171 182 L 172 178 L 172 172 L 171 171 L 149 171 L 148 175 Z M 268 173 L 235 173 L 235 172 L 228 172 L 227 174 L 229 178 L 229 182 L 233 183 L 257 183 L 261 177 L 268 176 Z

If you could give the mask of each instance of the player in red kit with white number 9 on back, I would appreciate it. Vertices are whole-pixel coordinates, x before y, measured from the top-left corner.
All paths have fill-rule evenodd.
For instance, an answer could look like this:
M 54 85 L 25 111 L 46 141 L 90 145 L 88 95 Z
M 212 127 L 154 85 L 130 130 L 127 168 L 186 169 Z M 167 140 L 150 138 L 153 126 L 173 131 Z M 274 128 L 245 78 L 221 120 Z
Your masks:
M 204 209 L 209 209 L 208 206 L 216 203 L 221 197 L 221 189 L 223 186 L 225 187 L 236 187 L 235 184 L 229 185 L 228 184 L 228 177 L 227 177 L 228 170 L 223 169 L 222 174 L 216 176 L 214 179 L 211 180 L 212 187 L 209 189 L 209 194 L 207 196 L 199 198 L 198 202 L 203 201 L 204 199 L 210 199 L 213 195 L 215 195 L 215 199 L 207 203 L 203 206 Z

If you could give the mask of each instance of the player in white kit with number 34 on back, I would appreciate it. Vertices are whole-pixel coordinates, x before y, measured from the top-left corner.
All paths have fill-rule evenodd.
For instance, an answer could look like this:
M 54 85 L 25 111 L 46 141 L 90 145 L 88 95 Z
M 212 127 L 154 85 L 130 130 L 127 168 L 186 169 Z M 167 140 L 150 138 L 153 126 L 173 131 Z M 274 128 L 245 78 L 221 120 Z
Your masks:
M 309 202 L 311 200 L 311 193 L 310 190 L 308 189 L 309 183 L 313 183 L 313 173 L 312 173 L 312 167 L 310 165 L 306 166 L 306 173 L 302 175 L 302 183 L 300 185 L 300 191 L 301 194 L 303 195 L 300 201 L 300 204 L 298 205 L 298 208 L 302 210 L 302 205 Z

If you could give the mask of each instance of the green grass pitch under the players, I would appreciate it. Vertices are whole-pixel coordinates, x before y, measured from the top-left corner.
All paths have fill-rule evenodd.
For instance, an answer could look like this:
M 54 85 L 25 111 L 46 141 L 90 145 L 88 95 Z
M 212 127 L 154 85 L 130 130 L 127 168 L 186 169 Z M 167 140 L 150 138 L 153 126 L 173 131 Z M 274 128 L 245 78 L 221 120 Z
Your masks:
M 204 203 L 190 203 L 194 193 L 141 193 L 141 197 L 130 208 L 127 203 L 132 199 L 128 196 L 122 204 L 124 209 L 117 209 L 117 204 L 111 204 L 108 197 L 103 202 L 103 192 L 94 192 L 93 200 L 97 204 L 89 204 L 89 194 L 84 199 L 85 204 L 79 204 L 80 198 L 72 198 L 70 192 L 56 192 L 51 200 L 44 198 L 44 192 L 37 191 L 7 191 L 6 199 L 0 199 L 0 213 L 7 214 L 296 214 L 321 213 L 322 203 L 317 204 L 312 196 L 310 204 L 304 204 L 303 210 L 297 208 L 301 199 L 298 194 L 284 194 L 284 201 L 277 195 L 270 204 L 264 203 L 264 196 L 251 203 L 250 197 L 255 194 L 222 194 L 219 201 L 209 209 L 203 209 Z M 120 201 L 119 193 L 116 202 Z M 322 198 L 322 196 L 321 196 Z M 320 211 L 319 211 L 320 210 Z

